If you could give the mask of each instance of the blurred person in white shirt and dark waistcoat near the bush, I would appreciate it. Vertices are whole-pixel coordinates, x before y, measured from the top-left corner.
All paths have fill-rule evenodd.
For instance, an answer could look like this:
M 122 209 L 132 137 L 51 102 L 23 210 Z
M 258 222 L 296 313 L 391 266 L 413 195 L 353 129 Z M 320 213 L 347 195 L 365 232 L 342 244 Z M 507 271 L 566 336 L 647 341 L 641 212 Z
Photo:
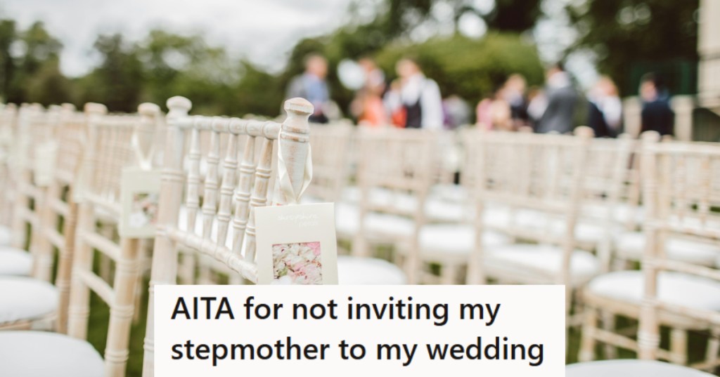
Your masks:
M 427 78 L 418 63 L 402 58 L 395 65 L 399 81 L 386 95 L 393 123 L 399 127 L 440 130 L 444 115 L 438 83 Z M 404 118 L 404 119 L 403 119 Z

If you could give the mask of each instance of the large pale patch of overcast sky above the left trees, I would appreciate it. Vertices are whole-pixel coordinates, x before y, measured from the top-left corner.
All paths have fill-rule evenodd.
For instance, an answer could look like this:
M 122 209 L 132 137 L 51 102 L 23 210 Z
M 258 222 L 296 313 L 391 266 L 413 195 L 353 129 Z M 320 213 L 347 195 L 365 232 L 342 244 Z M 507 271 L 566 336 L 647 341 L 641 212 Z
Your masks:
M 0 16 L 24 29 L 40 19 L 63 42 L 61 69 L 86 73 L 100 33 L 140 40 L 153 27 L 204 32 L 212 45 L 278 69 L 302 37 L 330 32 L 346 22 L 350 0 L 4 0 Z

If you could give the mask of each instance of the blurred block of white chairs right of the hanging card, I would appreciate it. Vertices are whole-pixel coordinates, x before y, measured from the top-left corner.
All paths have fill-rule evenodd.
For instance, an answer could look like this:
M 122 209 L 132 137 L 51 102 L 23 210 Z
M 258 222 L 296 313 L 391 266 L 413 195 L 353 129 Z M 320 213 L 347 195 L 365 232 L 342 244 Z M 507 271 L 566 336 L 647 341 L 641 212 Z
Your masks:
M 446 133 L 342 124 L 311 135 L 314 147 L 349 150 L 316 162 L 332 173 L 309 196 L 337 201 L 338 237 L 352 255 L 395 261 L 410 283 L 564 284 L 583 361 L 599 341 L 610 345 L 606 358 L 618 347 L 687 365 L 688 332 L 701 332 L 706 355 L 693 366 L 718 365 L 709 314 L 646 308 L 659 315 L 648 328 L 672 327 L 669 350 L 657 330 L 638 337 L 616 317 L 637 321 L 651 305 L 720 311 L 719 146 L 661 142 L 653 132 L 593 139 L 584 127 L 575 136 L 466 130 L 454 143 Z M 443 179 L 454 173 L 441 171 L 447 155 L 464 155 L 459 185 Z M 680 273 L 658 275 L 657 265 Z

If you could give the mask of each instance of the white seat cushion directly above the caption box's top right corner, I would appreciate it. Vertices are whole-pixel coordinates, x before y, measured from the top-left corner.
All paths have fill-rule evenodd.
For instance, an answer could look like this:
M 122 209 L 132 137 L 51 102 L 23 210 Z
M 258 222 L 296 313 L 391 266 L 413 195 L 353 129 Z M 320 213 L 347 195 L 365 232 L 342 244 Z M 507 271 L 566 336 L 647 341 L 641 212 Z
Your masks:
M 562 249 L 548 245 L 513 244 L 487 247 L 485 269 L 492 276 L 492 270 L 517 271 L 520 275 L 533 274 L 558 276 L 562 267 Z M 585 250 L 575 250 L 570 259 L 572 283 L 584 283 L 600 272 L 600 262 L 595 255 Z

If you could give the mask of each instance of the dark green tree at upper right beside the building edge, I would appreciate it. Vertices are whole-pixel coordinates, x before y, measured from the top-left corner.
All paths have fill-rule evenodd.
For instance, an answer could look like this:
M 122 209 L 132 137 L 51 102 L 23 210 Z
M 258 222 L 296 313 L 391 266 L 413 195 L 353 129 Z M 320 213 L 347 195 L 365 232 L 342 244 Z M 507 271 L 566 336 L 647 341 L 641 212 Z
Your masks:
M 698 60 L 698 0 L 585 0 L 567 8 L 581 33 L 573 50 L 598 55 L 598 68 L 636 94 L 631 69 L 647 62 Z

